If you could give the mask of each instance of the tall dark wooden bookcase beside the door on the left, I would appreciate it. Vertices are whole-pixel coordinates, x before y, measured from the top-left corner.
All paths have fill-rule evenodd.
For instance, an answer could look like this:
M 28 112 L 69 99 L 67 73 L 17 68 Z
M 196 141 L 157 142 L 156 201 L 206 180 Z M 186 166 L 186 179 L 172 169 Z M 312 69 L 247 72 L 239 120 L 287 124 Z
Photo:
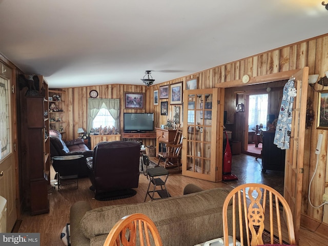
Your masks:
M 48 186 L 50 183 L 50 139 L 48 85 L 43 76 L 39 90 L 27 95 L 20 91 L 20 178 L 22 199 L 31 215 L 48 213 Z

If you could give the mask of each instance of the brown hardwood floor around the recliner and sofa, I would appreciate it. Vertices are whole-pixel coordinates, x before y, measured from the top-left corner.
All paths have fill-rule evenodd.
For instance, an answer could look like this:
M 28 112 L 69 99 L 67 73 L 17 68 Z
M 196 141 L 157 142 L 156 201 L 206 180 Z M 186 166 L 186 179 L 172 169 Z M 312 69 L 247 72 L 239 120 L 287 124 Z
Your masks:
M 248 180 L 248 182 L 251 182 Z M 195 178 L 185 177 L 181 174 L 170 174 L 167 181 L 167 188 L 172 196 L 179 196 L 183 193 L 183 188 L 188 183 L 195 183 L 203 189 L 212 189 L 217 187 L 235 186 L 229 182 L 210 182 Z M 113 204 L 127 204 L 144 202 L 148 180 L 145 175 L 140 174 L 139 187 L 136 189 L 137 194 L 133 197 L 113 200 L 97 201 L 93 199 L 93 192 L 89 189 L 91 186 L 89 178 L 79 179 L 78 189 L 75 185 L 63 186 L 59 191 L 53 190 L 49 186 L 49 204 L 50 213 L 30 216 L 28 212 L 23 213 L 22 223 L 18 232 L 40 232 L 40 245 L 58 246 L 64 245 L 60 240 L 60 233 L 66 223 L 69 222 L 69 212 L 72 204 L 79 200 L 89 201 L 92 208 L 109 206 Z M 300 246 L 326 245 L 328 237 L 301 229 Z M 181 245 L 183 246 L 183 245 Z M 186 245 L 192 246 L 192 245 Z

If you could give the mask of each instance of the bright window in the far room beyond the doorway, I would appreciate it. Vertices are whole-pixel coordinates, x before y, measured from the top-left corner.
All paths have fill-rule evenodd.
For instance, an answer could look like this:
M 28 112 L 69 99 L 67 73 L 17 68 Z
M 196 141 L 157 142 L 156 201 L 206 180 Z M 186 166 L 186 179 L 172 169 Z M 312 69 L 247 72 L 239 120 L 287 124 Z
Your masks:
M 248 126 L 249 131 L 255 130 L 256 125 L 262 124 L 267 128 L 268 94 L 250 95 Z

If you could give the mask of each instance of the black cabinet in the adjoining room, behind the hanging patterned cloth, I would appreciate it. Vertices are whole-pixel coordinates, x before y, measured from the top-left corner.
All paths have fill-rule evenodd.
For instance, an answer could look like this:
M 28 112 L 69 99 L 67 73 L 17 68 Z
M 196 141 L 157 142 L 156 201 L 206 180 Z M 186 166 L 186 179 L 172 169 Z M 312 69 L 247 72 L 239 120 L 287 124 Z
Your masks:
M 281 150 L 273 144 L 275 132 L 264 130 L 262 134 L 262 171 L 284 171 L 285 150 Z

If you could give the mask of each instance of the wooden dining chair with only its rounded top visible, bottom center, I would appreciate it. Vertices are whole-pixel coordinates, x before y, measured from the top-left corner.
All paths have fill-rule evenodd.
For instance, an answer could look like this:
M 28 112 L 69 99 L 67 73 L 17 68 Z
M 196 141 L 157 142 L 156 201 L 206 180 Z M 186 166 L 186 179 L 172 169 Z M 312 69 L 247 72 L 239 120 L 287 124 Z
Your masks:
M 121 218 L 109 232 L 104 246 L 162 246 L 154 222 L 145 214 L 132 214 Z

